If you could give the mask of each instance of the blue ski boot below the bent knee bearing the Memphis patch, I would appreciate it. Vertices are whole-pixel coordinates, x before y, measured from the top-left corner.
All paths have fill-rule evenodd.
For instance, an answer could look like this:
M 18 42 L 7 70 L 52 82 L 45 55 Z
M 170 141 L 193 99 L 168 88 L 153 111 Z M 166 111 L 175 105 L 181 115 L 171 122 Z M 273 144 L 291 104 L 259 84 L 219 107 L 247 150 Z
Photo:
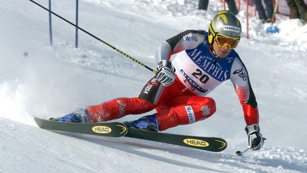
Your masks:
M 126 124 L 128 128 L 151 130 L 156 132 L 160 130 L 160 123 L 157 116 L 154 114 L 134 121 L 125 121 L 124 124 Z

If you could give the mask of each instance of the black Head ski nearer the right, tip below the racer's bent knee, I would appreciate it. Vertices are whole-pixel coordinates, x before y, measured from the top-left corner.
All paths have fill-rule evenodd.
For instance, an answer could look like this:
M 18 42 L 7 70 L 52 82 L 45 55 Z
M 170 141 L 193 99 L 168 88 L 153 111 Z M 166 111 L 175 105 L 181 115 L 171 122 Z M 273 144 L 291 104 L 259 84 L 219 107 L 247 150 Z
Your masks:
M 125 137 L 169 143 L 211 152 L 221 152 L 227 147 L 227 142 L 223 138 L 176 135 L 131 128 L 128 128 Z

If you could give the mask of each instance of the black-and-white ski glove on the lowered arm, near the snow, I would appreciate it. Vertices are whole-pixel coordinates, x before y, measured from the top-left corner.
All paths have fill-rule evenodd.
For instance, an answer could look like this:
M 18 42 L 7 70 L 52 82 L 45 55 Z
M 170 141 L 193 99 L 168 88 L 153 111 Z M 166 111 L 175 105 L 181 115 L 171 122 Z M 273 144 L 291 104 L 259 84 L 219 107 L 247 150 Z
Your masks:
M 262 138 L 258 124 L 251 124 L 245 127 L 248 135 L 248 147 L 250 150 L 259 150 L 264 145 L 265 138 Z

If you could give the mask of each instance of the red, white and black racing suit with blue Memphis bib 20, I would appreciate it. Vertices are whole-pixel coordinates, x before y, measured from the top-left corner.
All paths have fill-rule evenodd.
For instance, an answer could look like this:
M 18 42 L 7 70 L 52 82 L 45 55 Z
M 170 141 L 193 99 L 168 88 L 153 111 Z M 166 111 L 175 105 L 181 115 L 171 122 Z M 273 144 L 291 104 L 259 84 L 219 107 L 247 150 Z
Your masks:
M 117 98 L 89 106 L 92 122 L 110 121 L 129 114 L 142 114 L 156 109 L 160 131 L 210 117 L 216 110 L 213 99 L 206 97 L 215 87 L 230 79 L 243 107 L 247 125 L 258 124 L 257 102 L 249 75 L 237 52 L 224 58 L 210 49 L 208 33 L 188 30 L 166 41 L 156 51 L 157 62 L 171 60 L 175 81 L 164 87 L 150 79 L 138 97 Z

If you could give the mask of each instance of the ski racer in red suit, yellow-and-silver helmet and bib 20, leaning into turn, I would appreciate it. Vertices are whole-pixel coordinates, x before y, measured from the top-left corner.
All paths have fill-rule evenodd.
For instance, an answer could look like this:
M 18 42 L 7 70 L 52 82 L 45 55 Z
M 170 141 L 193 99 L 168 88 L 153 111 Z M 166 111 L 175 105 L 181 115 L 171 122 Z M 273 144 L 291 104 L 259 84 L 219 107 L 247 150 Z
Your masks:
M 216 110 L 206 97 L 215 87 L 230 79 L 243 107 L 251 150 L 263 147 L 258 126 L 257 102 L 249 83 L 247 69 L 237 52 L 241 36 L 240 21 L 229 11 L 218 12 L 209 32 L 189 30 L 163 41 L 156 51 L 158 73 L 138 97 L 117 98 L 79 109 L 56 121 L 110 121 L 129 114 L 153 115 L 124 122 L 130 128 L 163 131 L 177 125 L 209 118 Z M 171 60 L 171 55 L 176 57 Z

